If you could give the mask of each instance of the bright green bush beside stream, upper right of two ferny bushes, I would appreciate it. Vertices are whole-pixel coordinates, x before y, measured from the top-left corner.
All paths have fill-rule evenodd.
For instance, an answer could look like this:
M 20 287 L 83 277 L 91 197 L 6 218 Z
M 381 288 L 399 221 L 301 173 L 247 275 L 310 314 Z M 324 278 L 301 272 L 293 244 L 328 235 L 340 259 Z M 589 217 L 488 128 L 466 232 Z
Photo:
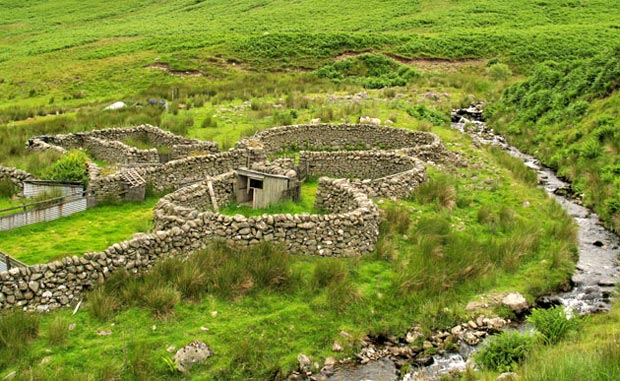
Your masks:
M 550 309 L 535 308 L 527 317 L 527 321 L 540 332 L 545 344 L 556 344 L 579 324 L 574 318 L 569 319 L 566 316 L 563 306 Z

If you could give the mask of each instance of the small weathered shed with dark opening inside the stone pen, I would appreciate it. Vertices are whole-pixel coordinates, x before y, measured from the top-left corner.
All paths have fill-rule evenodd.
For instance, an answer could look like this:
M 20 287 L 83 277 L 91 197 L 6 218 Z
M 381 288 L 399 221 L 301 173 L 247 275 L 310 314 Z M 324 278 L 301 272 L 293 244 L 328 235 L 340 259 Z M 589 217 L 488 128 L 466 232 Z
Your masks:
M 279 201 L 299 199 L 300 184 L 292 177 L 247 168 L 237 169 L 236 174 L 234 194 L 238 203 L 259 209 Z

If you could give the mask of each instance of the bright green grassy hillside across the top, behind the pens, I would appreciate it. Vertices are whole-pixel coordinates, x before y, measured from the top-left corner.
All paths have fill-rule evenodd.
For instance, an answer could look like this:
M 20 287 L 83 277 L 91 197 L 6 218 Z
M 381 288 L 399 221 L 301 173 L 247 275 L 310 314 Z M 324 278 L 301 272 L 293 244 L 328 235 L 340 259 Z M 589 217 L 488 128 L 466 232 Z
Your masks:
M 258 70 L 317 67 L 344 51 L 376 48 L 531 63 L 589 55 L 620 34 L 620 5 L 600 0 L 3 0 L 0 6 L 5 105 L 131 95 L 168 80 L 144 68 L 157 61 L 221 74 L 231 68 L 226 59 Z

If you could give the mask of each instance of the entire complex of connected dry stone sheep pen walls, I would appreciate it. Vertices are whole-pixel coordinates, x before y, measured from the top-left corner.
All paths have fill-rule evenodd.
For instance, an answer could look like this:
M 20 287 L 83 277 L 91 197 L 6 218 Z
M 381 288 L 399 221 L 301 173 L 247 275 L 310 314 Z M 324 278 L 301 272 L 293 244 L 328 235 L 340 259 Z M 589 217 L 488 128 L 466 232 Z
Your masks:
M 171 139 L 168 143 L 173 141 L 172 134 L 140 126 L 38 137 L 29 144 L 57 150 L 84 144 L 82 148 L 88 149 L 96 139 L 112 147 L 105 152 L 114 152 L 120 147 L 114 143 L 118 141 L 106 139 L 125 139 L 126 134 L 143 132 L 166 136 Z M 163 164 L 151 163 L 108 176 L 89 166 L 89 189 L 98 200 L 123 192 L 127 187 L 123 173 L 127 170 L 138 172 L 155 189 L 169 190 L 155 206 L 155 228 L 102 252 L 0 272 L 0 309 L 18 306 L 48 311 L 71 305 L 114 271 L 126 269 L 138 274 L 162 257 L 189 255 L 212 240 L 242 246 L 271 241 L 293 254 L 352 257 L 369 253 L 377 242 L 380 222 L 372 198 L 409 195 L 427 179 L 424 162 L 438 162 L 446 155 L 433 134 L 363 124 L 276 127 L 242 139 L 226 152 L 217 152 L 215 143 L 191 140 L 193 143 L 174 140 L 178 147 L 172 150 L 174 160 Z M 196 148 L 201 154 L 180 157 Z M 290 151 L 299 151 L 297 165 L 290 158 L 268 159 Z M 125 162 L 147 157 L 131 149 L 123 152 L 126 155 L 118 157 Z M 154 159 L 155 155 L 148 156 L 148 160 Z M 217 205 L 235 201 L 236 170 L 243 168 L 286 174 L 299 181 L 306 176 L 320 177 L 314 205 L 326 213 L 255 217 L 219 213 Z M 23 174 L 7 175 L 21 178 Z

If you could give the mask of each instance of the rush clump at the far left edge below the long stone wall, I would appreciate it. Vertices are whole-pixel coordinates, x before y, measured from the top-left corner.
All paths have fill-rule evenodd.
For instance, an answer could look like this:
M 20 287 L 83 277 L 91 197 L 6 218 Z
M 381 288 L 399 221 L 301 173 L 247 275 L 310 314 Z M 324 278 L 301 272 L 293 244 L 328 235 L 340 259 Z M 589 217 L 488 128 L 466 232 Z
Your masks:
M 39 316 L 15 309 L 0 314 L 0 349 L 11 355 L 23 353 L 39 335 Z

